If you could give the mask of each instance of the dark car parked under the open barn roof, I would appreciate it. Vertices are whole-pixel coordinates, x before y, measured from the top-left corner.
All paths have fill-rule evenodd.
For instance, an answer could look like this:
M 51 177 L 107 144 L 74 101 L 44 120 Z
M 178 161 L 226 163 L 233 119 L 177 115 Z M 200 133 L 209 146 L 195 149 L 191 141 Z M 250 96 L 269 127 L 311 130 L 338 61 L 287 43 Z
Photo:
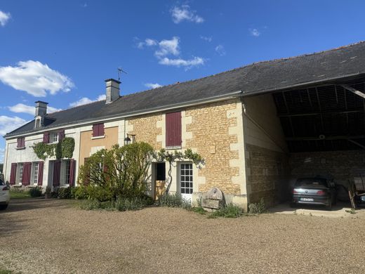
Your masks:
M 331 210 L 336 204 L 336 185 L 328 178 L 298 178 L 292 188 L 291 206 L 298 204 L 324 205 Z

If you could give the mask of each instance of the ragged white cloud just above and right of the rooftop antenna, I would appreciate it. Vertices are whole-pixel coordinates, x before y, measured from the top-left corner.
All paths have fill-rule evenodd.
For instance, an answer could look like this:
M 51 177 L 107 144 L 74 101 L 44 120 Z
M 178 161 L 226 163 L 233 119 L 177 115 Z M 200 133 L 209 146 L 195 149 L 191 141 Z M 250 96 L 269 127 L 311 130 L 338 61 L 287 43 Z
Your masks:
M 156 50 L 154 51 L 154 56 L 159 60 L 160 65 L 170 65 L 175 67 L 185 67 L 189 69 L 193 66 L 204 65 L 204 59 L 201 57 L 194 57 L 191 60 L 186 60 L 180 58 L 180 38 L 173 37 L 172 39 L 164 39 L 157 41 L 154 39 L 145 39 L 143 42 L 137 44 L 138 48 L 143 48 L 144 46 L 154 46 Z M 175 56 L 170 58 L 169 56 Z M 178 57 L 178 58 L 176 58 Z

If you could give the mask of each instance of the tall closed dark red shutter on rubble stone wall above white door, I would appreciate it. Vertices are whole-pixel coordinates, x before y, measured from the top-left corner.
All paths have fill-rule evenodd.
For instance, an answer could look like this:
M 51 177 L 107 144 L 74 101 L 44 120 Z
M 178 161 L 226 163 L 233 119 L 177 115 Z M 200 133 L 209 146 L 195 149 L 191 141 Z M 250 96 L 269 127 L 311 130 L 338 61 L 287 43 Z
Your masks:
M 166 113 L 166 147 L 181 146 L 181 112 Z

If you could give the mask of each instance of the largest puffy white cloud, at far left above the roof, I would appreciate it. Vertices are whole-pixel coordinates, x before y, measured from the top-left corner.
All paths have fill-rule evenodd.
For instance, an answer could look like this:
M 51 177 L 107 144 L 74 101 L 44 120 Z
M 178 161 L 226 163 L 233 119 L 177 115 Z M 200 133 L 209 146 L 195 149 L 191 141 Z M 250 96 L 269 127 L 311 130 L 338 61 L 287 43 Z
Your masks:
M 45 97 L 47 91 L 53 95 L 58 91 L 68 92 L 74 87 L 69 77 L 32 60 L 21 61 L 16 67 L 0 67 L 0 81 L 36 97 Z

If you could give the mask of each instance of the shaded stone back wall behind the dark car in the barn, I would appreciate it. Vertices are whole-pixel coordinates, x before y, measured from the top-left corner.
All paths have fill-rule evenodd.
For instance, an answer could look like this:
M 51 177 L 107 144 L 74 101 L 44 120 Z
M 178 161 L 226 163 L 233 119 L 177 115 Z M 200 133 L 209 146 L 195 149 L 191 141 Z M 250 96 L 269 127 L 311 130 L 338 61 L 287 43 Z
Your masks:
M 347 185 L 365 172 L 364 150 L 292 153 L 291 176 L 333 176 L 336 183 Z

